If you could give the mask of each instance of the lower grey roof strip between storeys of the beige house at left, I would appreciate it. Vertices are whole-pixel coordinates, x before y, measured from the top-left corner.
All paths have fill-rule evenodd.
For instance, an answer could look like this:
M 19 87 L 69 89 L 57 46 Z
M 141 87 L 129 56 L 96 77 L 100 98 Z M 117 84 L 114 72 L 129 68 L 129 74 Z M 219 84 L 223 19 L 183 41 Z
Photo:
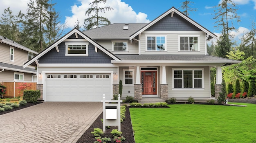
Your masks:
M 36 70 L 33 68 L 23 68 L 22 66 L 16 66 L 13 64 L 6 64 L 2 62 L 0 62 L 0 69 L 13 70 L 13 71 L 24 72 L 24 73 L 36 73 Z

